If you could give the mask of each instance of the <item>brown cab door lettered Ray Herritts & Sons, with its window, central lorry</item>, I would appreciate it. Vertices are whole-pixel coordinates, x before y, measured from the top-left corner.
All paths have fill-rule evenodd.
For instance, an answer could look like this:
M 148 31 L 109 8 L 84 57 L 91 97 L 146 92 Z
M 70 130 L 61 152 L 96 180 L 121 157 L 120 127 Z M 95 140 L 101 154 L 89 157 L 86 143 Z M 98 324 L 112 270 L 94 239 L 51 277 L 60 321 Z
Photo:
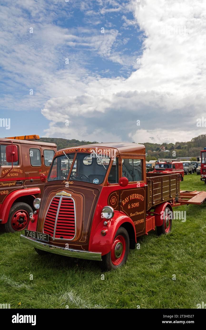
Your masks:
M 145 233 L 146 219 L 146 187 L 144 158 L 122 156 L 122 177 L 129 180 L 129 184 L 120 191 L 120 211 L 127 214 L 134 222 L 136 236 Z

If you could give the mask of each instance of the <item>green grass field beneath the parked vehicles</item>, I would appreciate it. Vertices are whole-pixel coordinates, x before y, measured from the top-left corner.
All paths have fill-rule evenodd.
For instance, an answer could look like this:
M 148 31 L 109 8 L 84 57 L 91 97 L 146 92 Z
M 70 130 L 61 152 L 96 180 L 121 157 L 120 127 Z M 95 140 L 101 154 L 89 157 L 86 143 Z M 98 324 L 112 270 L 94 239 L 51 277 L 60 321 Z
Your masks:
M 201 191 L 206 185 L 194 173 L 184 177 L 181 189 Z M 0 234 L 0 303 L 20 309 L 196 308 L 206 303 L 206 205 L 177 211 L 186 211 L 185 222 L 173 220 L 167 236 L 156 231 L 142 236 L 127 263 L 105 273 L 98 262 L 39 256 L 20 243 L 19 233 Z

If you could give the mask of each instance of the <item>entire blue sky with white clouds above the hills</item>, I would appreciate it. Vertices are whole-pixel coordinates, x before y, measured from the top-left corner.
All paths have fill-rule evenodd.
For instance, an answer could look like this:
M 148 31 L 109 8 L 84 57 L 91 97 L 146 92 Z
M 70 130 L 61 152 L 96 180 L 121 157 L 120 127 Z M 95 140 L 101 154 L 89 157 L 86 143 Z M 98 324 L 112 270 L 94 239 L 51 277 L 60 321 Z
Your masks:
M 203 133 L 205 17 L 201 0 L 2 0 L 0 117 L 11 129 L 1 136 L 161 143 Z

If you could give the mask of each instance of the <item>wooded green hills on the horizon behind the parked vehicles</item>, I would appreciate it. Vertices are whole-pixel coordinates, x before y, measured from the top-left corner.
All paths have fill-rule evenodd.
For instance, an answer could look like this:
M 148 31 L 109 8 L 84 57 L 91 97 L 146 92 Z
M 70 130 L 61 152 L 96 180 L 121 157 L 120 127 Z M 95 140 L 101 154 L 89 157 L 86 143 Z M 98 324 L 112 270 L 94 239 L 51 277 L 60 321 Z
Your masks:
M 56 143 L 57 149 L 63 149 L 68 147 L 83 146 L 90 143 L 97 143 L 97 141 L 79 141 L 79 140 L 67 140 L 61 138 L 41 138 L 40 141 Z M 206 134 L 199 135 L 188 142 L 176 142 L 173 143 L 143 143 L 146 148 L 146 160 L 158 159 L 158 158 L 181 158 L 181 157 L 199 157 L 200 150 L 206 147 Z M 175 153 L 174 153 L 175 151 Z M 175 156 L 174 156 L 175 155 Z

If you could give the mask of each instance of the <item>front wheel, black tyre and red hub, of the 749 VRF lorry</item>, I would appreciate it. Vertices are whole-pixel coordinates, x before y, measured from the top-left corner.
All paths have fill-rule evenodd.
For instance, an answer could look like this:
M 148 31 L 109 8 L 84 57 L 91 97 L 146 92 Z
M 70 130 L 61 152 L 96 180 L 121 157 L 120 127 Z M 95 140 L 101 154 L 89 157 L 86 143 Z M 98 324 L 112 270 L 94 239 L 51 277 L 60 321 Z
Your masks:
M 102 256 L 101 268 L 106 271 L 116 269 L 125 264 L 129 254 L 130 240 L 127 230 L 119 227 L 111 251 Z

